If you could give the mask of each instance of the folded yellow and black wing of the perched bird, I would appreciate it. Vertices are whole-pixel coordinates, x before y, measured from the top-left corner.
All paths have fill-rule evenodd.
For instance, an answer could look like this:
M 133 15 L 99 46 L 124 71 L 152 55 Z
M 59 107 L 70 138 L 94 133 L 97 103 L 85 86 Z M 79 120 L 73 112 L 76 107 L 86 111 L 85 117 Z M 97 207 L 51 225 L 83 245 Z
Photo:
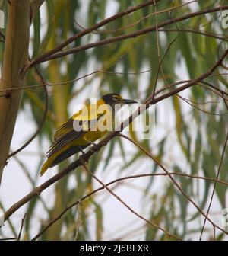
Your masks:
M 76 120 L 72 117 L 67 120 L 59 129 L 56 131 L 54 136 L 54 143 L 52 144 L 49 152 L 47 152 L 47 157 L 49 158 L 64 146 L 68 145 L 74 139 L 78 139 L 79 136 L 82 136 L 84 133 L 87 133 L 88 130 L 91 130 L 93 126 L 97 124 L 97 121 L 100 117 L 103 117 L 104 114 L 97 114 L 97 118 L 90 120 Z M 86 126 L 84 130 L 83 127 Z M 81 130 L 75 130 L 75 127 L 81 127 Z

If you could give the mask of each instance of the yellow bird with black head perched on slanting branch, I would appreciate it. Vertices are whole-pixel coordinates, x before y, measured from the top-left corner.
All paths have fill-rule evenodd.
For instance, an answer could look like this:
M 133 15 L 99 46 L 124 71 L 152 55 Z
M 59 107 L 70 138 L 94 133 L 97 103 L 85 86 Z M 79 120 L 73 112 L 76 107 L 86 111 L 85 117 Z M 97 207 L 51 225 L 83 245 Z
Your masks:
M 56 130 L 54 142 L 47 152 L 40 176 L 48 168 L 58 165 L 66 158 L 83 152 L 87 146 L 94 144 L 105 133 L 112 129 L 116 110 L 124 104 L 133 104 L 119 94 L 106 94 L 96 104 L 87 104 L 70 117 Z

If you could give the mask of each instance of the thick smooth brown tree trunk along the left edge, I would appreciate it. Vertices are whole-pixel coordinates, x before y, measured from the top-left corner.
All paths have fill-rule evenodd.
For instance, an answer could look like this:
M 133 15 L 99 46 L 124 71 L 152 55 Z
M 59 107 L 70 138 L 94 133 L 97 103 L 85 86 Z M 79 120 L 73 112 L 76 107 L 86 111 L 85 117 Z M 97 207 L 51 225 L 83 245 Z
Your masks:
M 30 39 L 30 1 L 8 1 L 8 24 L 0 89 L 24 86 L 23 71 L 28 59 Z M 12 90 L 0 97 L 0 182 L 8 158 L 22 90 Z

